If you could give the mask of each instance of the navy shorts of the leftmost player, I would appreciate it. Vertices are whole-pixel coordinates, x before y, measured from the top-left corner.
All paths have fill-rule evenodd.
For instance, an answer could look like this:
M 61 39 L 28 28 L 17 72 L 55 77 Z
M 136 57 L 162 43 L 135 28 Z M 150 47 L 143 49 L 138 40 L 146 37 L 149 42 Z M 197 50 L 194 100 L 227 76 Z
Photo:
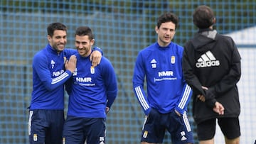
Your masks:
M 29 111 L 28 135 L 31 144 L 62 144 L 63 110 Z

